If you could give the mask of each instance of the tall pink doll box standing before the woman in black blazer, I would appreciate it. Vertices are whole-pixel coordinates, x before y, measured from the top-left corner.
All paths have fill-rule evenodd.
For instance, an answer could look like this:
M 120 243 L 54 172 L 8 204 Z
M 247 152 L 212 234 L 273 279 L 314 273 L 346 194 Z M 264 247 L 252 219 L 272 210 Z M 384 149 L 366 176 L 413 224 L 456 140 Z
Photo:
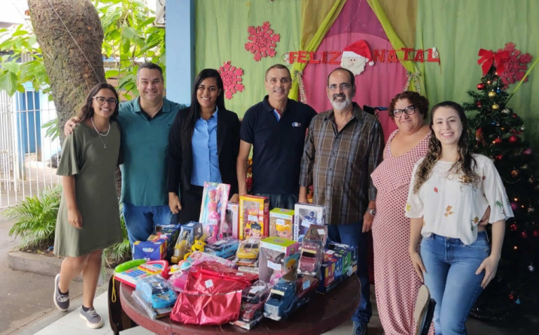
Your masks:
M 204 227 L 207 242 L 217 241 L 221 223 L 225 222 L 230 185 L 204 182 L 199 222 Z

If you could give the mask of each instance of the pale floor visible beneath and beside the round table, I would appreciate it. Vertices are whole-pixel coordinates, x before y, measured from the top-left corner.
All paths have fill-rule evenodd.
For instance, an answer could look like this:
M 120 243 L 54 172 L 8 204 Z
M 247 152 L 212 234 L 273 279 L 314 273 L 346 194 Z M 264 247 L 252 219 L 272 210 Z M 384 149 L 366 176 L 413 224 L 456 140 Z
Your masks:
M 107 293 L 101 294 L 95 298 L 93 303 L 95 310 L 98 311 L 99 315 L 105 320 L 105 324 L 100 329 L 90 329 L 86 327 L 86 322 L 79 317 L 81 308 L 76 308 L 69 314 L 62 317 L 60 320 L 49 324 L 46 328 L 41 329 L 35 335 L 112 335 L 114 334 L 110 328 L 109 318 L 108 318 L 108 306 L 107 306 Z M 142 327 L 135 327 L 122 331 L 121 335 L 151 335 L 153 334 L 150 331 Z M 339 327 L 328 331 L 328 335 L 348 335 L 352 334 L 352 322 L 345 322 Z M 380 319 L 378 319 L 378 310 L 373 306 L 373 317 L 371 318 L 371 323 L 368 324 L 368 334 L 369 335 L 380 335 L 382 334 L 382 326 L 380 325 Z

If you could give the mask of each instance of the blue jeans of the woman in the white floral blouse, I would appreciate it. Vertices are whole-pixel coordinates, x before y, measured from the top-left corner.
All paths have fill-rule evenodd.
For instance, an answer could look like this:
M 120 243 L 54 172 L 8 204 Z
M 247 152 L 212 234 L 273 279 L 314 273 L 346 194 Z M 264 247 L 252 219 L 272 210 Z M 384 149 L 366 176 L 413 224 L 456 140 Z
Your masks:
M 466 319 L 481 294 L 485 275 L 475 272 L 490 254 L 486 232 L 479 232 L 477 240 L 470 245 L 435 234 L 423 237 L 420 255 L 427 271 L 425 285 L 436 301 L 436 335 L 467 334 Z

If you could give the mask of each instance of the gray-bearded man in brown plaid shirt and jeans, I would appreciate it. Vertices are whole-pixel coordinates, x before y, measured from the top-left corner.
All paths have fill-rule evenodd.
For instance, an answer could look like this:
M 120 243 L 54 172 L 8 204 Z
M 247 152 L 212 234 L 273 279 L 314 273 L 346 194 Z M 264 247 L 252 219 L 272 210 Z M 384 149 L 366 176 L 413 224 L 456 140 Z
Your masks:
M 352 334 L 366 334 L 372 315 L 366 232 L 376 214 L 371 173 L 382 162 L 382 126 L 376 117 L 352 103 L 356 85 L 350 70 L 333 70 L 326 92 L 333 109 L 318 114 L 309 126 L 299 200 L 307 202 L 307 188 L 313 185 L 313 204 L 326 206 L 329 238 L 358 247 L 361 300 L 352 315 Z

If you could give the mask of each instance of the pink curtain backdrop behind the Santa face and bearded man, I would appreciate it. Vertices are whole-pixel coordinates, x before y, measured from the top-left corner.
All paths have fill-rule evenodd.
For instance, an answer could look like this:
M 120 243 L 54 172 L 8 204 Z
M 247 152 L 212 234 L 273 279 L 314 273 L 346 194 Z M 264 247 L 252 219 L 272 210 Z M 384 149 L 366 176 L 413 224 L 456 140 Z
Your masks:
M 371 7 L 368 6 L 367 1 L 348 0 L 317 52 L 342 52 L 345 46 L 359 39 L 364 39 L 367 42 L 371 53 L 375 48 L 392 49 L 382 25 Z M 387 59 L 387 53 L 385 58 Z M 317 55 L 317 59 L 321 59 L 321 55 Z M 340 57 L 338 63 L 340 63 Z M 317 112 L 331 109 L 331 103 L 326 94 L 327 76 L 337 67 L 339 65 L 308 64 L 303 71 L 307 103 Z M 387 107 L 390 100 L 402 91 L 407 77 L 406 70 L 400 63 L 377 62 L 373 66 L 366 65 L 365 71 L 358 74 L 355 79 L 357 93 L 354 101 L 356 103 L 361 107 L 363 105 Z M 384 138 L 387 140 L 390 134 L 397 129 L 397 126 L 385 111 L 380 112 L 379 119 L 384 131 Z

